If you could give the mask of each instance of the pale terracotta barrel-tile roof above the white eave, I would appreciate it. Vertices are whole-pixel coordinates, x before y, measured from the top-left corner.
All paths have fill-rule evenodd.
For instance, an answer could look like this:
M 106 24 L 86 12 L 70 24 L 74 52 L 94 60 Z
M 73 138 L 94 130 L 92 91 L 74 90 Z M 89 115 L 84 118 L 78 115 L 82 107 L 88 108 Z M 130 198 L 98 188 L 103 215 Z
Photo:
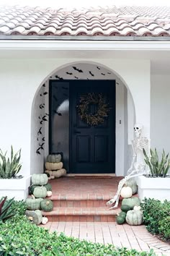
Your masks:
M 170 36 L 170 7 L 0 7 L 1 35 Z

